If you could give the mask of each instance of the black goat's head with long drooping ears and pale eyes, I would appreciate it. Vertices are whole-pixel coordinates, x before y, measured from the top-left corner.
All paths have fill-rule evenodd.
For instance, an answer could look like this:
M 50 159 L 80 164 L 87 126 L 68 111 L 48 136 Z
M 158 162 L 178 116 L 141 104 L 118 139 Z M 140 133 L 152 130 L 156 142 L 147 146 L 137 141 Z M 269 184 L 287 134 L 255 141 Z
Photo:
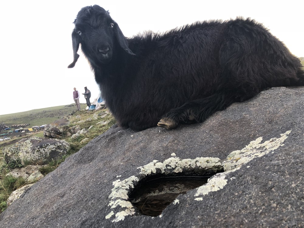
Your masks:
M 130 55 L 135 55 L 128 47 L 128 42 L 118 24 L 110 17 L 109 12 L 98 5 L 82 8 L 74 21 L 72 32 L 74 61 L 78 60 L 79 44 L 81 50 L 93 65 L 108 64 L 115 53 L 116 43 Z

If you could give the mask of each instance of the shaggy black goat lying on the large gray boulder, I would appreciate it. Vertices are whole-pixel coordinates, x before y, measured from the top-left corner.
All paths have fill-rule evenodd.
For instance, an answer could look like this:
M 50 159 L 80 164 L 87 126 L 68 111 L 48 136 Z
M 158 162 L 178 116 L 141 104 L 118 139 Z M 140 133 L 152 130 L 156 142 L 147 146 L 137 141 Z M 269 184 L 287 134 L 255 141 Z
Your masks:
M 261 24 L 237 18 L 126 39 L 109 12 L 82 8 L 72 32 L 123 127 L 172 129 L 202 122 L 233 102 L 274 86 L 304 85 L 298 58 Z

